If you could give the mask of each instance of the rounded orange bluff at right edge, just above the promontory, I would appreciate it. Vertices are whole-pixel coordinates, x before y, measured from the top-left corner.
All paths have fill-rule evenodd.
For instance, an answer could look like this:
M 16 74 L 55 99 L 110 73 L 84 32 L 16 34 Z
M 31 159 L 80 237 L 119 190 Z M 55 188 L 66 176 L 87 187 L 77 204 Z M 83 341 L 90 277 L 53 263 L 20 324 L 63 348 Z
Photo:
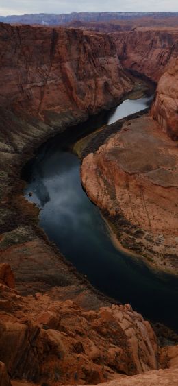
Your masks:
M 164 132 L 178 139 L 178 60 L 160 78 L 151 114 Z

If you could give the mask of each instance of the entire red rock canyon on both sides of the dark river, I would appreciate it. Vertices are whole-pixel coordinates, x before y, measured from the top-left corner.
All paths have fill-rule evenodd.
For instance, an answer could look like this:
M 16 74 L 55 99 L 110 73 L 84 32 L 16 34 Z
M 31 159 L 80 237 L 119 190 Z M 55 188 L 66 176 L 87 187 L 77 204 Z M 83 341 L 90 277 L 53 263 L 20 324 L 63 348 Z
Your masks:
M 21 167 L 50 136 L 116 106 L 138 86 L 133 74 L 158 82 L 151 112 L 94 134 L 81 178 L 120 242 L 176 274 L 177 47 L 175 29 L 0 24 L 2 385 L 176 384 L 176 342 L 160 347 L 149 322 L 99 293 L 49 242 Z

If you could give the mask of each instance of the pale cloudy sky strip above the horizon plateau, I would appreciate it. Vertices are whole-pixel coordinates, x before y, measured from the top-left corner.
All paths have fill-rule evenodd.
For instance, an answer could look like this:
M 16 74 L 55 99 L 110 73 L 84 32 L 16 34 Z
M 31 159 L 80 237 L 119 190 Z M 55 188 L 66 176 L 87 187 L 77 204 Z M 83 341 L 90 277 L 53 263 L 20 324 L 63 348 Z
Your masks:
M 68 12 L 178 11 L 177 0 L 0 0 L 0 15 Z

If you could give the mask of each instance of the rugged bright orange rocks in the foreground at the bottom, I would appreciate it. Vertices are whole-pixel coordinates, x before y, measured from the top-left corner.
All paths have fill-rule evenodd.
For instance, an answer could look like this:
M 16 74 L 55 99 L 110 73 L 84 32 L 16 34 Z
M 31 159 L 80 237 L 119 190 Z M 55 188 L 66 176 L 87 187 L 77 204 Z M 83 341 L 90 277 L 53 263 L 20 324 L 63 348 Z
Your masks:
M 129 304 L 87 311 L 77 297 L 58 300 L 58 288 L 22 297 L 0 284 L 0 292 L 0 361 L 11 378 L 99 383 L 115 372 L 131 375 L 159 366 L 155 334 Z

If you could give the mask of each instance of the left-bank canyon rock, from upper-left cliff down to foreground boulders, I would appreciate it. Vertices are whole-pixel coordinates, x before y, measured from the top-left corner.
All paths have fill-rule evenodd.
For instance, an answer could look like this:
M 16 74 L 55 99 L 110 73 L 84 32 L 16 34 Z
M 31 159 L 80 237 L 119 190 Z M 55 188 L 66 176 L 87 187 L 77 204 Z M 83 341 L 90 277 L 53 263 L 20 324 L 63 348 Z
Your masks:
M 131 90 L 112 38 L 1 25 L 0 47 L 1 378 L 85 384 L 156 369 L 149 323 L 129 305 L 112 305 L 66 263 L 39 230 L 18 176 L 45 138 Z

